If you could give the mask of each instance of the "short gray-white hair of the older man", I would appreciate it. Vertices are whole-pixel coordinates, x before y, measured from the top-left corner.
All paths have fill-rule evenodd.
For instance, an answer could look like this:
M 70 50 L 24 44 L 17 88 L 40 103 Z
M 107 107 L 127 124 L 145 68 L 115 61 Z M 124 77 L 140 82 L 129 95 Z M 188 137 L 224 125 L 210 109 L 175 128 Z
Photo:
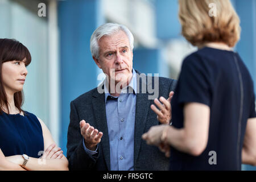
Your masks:
M 130 49 L 133 51 L 133 34 L 131 31 L 122 24 L 117 23 L 105 23 L 98 27 L 90 37 L 90 52 L 92 56 L 98 59 L 100 57 L 100 47 L 98 46 L 98 41 L 102 38 L 102 36 L 110 36 L 118 31 L 122 30 L 127 35 L 130 42 Z

